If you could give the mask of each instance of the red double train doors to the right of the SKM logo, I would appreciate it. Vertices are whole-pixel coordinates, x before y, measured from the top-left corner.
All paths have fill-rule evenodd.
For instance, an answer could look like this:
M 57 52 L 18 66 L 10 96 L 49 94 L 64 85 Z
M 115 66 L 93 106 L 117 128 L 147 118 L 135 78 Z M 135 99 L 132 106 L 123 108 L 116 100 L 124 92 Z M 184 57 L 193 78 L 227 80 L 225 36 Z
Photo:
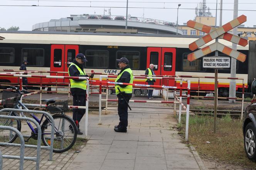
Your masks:
M 147 68 L 153 63 L 155 75 L 175 75 L 175 61 L 175 48 L 148 47 L 147 49 Z M 157 79 L 155 85 L 160 85 L 161 82 Z M 168 85 L 174 85 L 174 80 L 169 80 Z

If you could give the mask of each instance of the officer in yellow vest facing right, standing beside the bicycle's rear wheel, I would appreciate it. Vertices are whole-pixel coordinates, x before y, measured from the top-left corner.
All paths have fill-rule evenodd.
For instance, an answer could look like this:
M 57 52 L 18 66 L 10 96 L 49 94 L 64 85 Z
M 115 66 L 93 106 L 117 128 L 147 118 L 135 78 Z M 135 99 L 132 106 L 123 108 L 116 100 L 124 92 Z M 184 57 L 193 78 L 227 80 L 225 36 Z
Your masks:
M 69 66 L 69 76 L 71 77 L 88 77 L 84 72 L 84 62 L 87 62 L 83 53 L 76 55 L 76 58 Z M 93 78 L 93 75 L 90 76 Z M 86 80 L 69 79 L 71 84 L 71 94 L 73 96 L 74 106 L 86 106 Z M 78 128 L 78 135 L 83 135 L 79 129 L 79 122 L 85 113 L 85 109 L 73 108 L 73 120 Z M 73 129 L 71 129 L 73 131 Z

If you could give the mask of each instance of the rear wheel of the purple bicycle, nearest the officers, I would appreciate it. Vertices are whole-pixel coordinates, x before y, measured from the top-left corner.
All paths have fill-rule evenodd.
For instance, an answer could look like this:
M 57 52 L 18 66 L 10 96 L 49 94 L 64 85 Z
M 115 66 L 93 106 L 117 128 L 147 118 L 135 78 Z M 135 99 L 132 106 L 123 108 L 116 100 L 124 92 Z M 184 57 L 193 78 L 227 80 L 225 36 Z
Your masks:
M 53 152 L 62 153 L 69 150 L 76 142 L 77 128 L 74 121 L 66 115 L 53 115 L 54 118 L 54 143 Z M 42 141 L 45 146 L 51 144 L 52 123 L 45 120 L 41 126 Z

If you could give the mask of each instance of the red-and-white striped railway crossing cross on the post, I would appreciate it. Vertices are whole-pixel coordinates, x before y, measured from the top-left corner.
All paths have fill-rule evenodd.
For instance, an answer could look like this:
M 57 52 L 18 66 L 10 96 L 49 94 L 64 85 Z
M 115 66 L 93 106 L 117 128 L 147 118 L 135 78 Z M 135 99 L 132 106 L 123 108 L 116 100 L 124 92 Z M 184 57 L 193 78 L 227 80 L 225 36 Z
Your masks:
M 236 43 L 241 46 L 246 46 L 248 44 L 248 40 L 238 37 L 236 35 L 227 33 L 229 30 L 232 30 L 233 28 L 237 27 L 241 23 L 246 22 L 246 16 L 241 15 L 237 17 L 236 19 L 232 20 L 231 22 L 226 23 L 222 27 L 219 28 L 213 28 L 208 25 L 204 25 L 202 23 L 198 23 L 192 20 L 189 20 L 187 22 L 187 26 L 191 28 L 195 28 L 196 30 L 208 33 L 202 38 L 199 38 L 195 42 L 192 42 L 189 44 L 189 49 L 194 51 L 195 49 L 201 47 L 202 45 L 205 45 L 206 43 L 210 42 L 211 40 L 215 38 L 223 38 L 224 40 L 230 41 L 232 43 Z M 204 47 L 202 49 L 199 49 L 193 53 L 190 53 L 187 56 L 187 59 L 192 62 L 200 57 L 203 57 L 204 55 L 207 55 L 214 51 L 220 51 L 226 55 L 229 55 L 230 57 L 236 58 L 237 60 L 244 62 L 246 59 L 246 55 L 243 53 L 240 53 L 236 50 L 233 50 L 232 48 L 229 48 L 219 42 L 215 42 L 207 47 Z

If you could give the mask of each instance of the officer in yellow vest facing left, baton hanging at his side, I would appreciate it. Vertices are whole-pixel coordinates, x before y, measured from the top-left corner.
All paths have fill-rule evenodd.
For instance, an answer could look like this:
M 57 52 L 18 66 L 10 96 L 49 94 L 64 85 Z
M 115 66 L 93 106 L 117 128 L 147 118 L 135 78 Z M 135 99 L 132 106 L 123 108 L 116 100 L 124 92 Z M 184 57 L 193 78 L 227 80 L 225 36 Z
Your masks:
M 133 72 L 129 67 L 129 61 L 127 58 L 116 59 L 118 62 L 118 66 L 121 69 L 120 73 L 115 80 L 115 82 L 119 83 L 133 83 Z M 122 93 L 119 92 L 118 87 Z M 119 115 L 119 124 L 115 126 L 114 130 L 116 132 L 127 132 L 128 126 L 128 105 L 125 102 L 124 98 L 127 102 L 129 102 L 133 86 L 132 85 L 115 85 L 116 95 L 118 97 L 118 115 Z

